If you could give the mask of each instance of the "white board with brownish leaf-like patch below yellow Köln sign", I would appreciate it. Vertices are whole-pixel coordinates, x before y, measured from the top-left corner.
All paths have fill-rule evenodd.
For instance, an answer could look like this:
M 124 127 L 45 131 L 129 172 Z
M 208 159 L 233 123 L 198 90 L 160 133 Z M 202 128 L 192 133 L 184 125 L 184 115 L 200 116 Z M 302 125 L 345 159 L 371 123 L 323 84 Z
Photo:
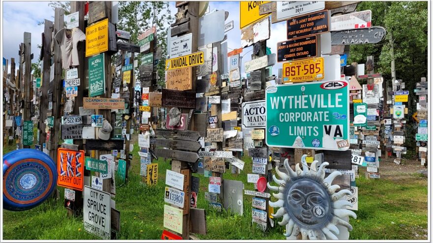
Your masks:
M 259 41 L 268 40 L 271 35 L 269 18 L 264 18 L 241 29 L 241 47 L 246 48 Z

